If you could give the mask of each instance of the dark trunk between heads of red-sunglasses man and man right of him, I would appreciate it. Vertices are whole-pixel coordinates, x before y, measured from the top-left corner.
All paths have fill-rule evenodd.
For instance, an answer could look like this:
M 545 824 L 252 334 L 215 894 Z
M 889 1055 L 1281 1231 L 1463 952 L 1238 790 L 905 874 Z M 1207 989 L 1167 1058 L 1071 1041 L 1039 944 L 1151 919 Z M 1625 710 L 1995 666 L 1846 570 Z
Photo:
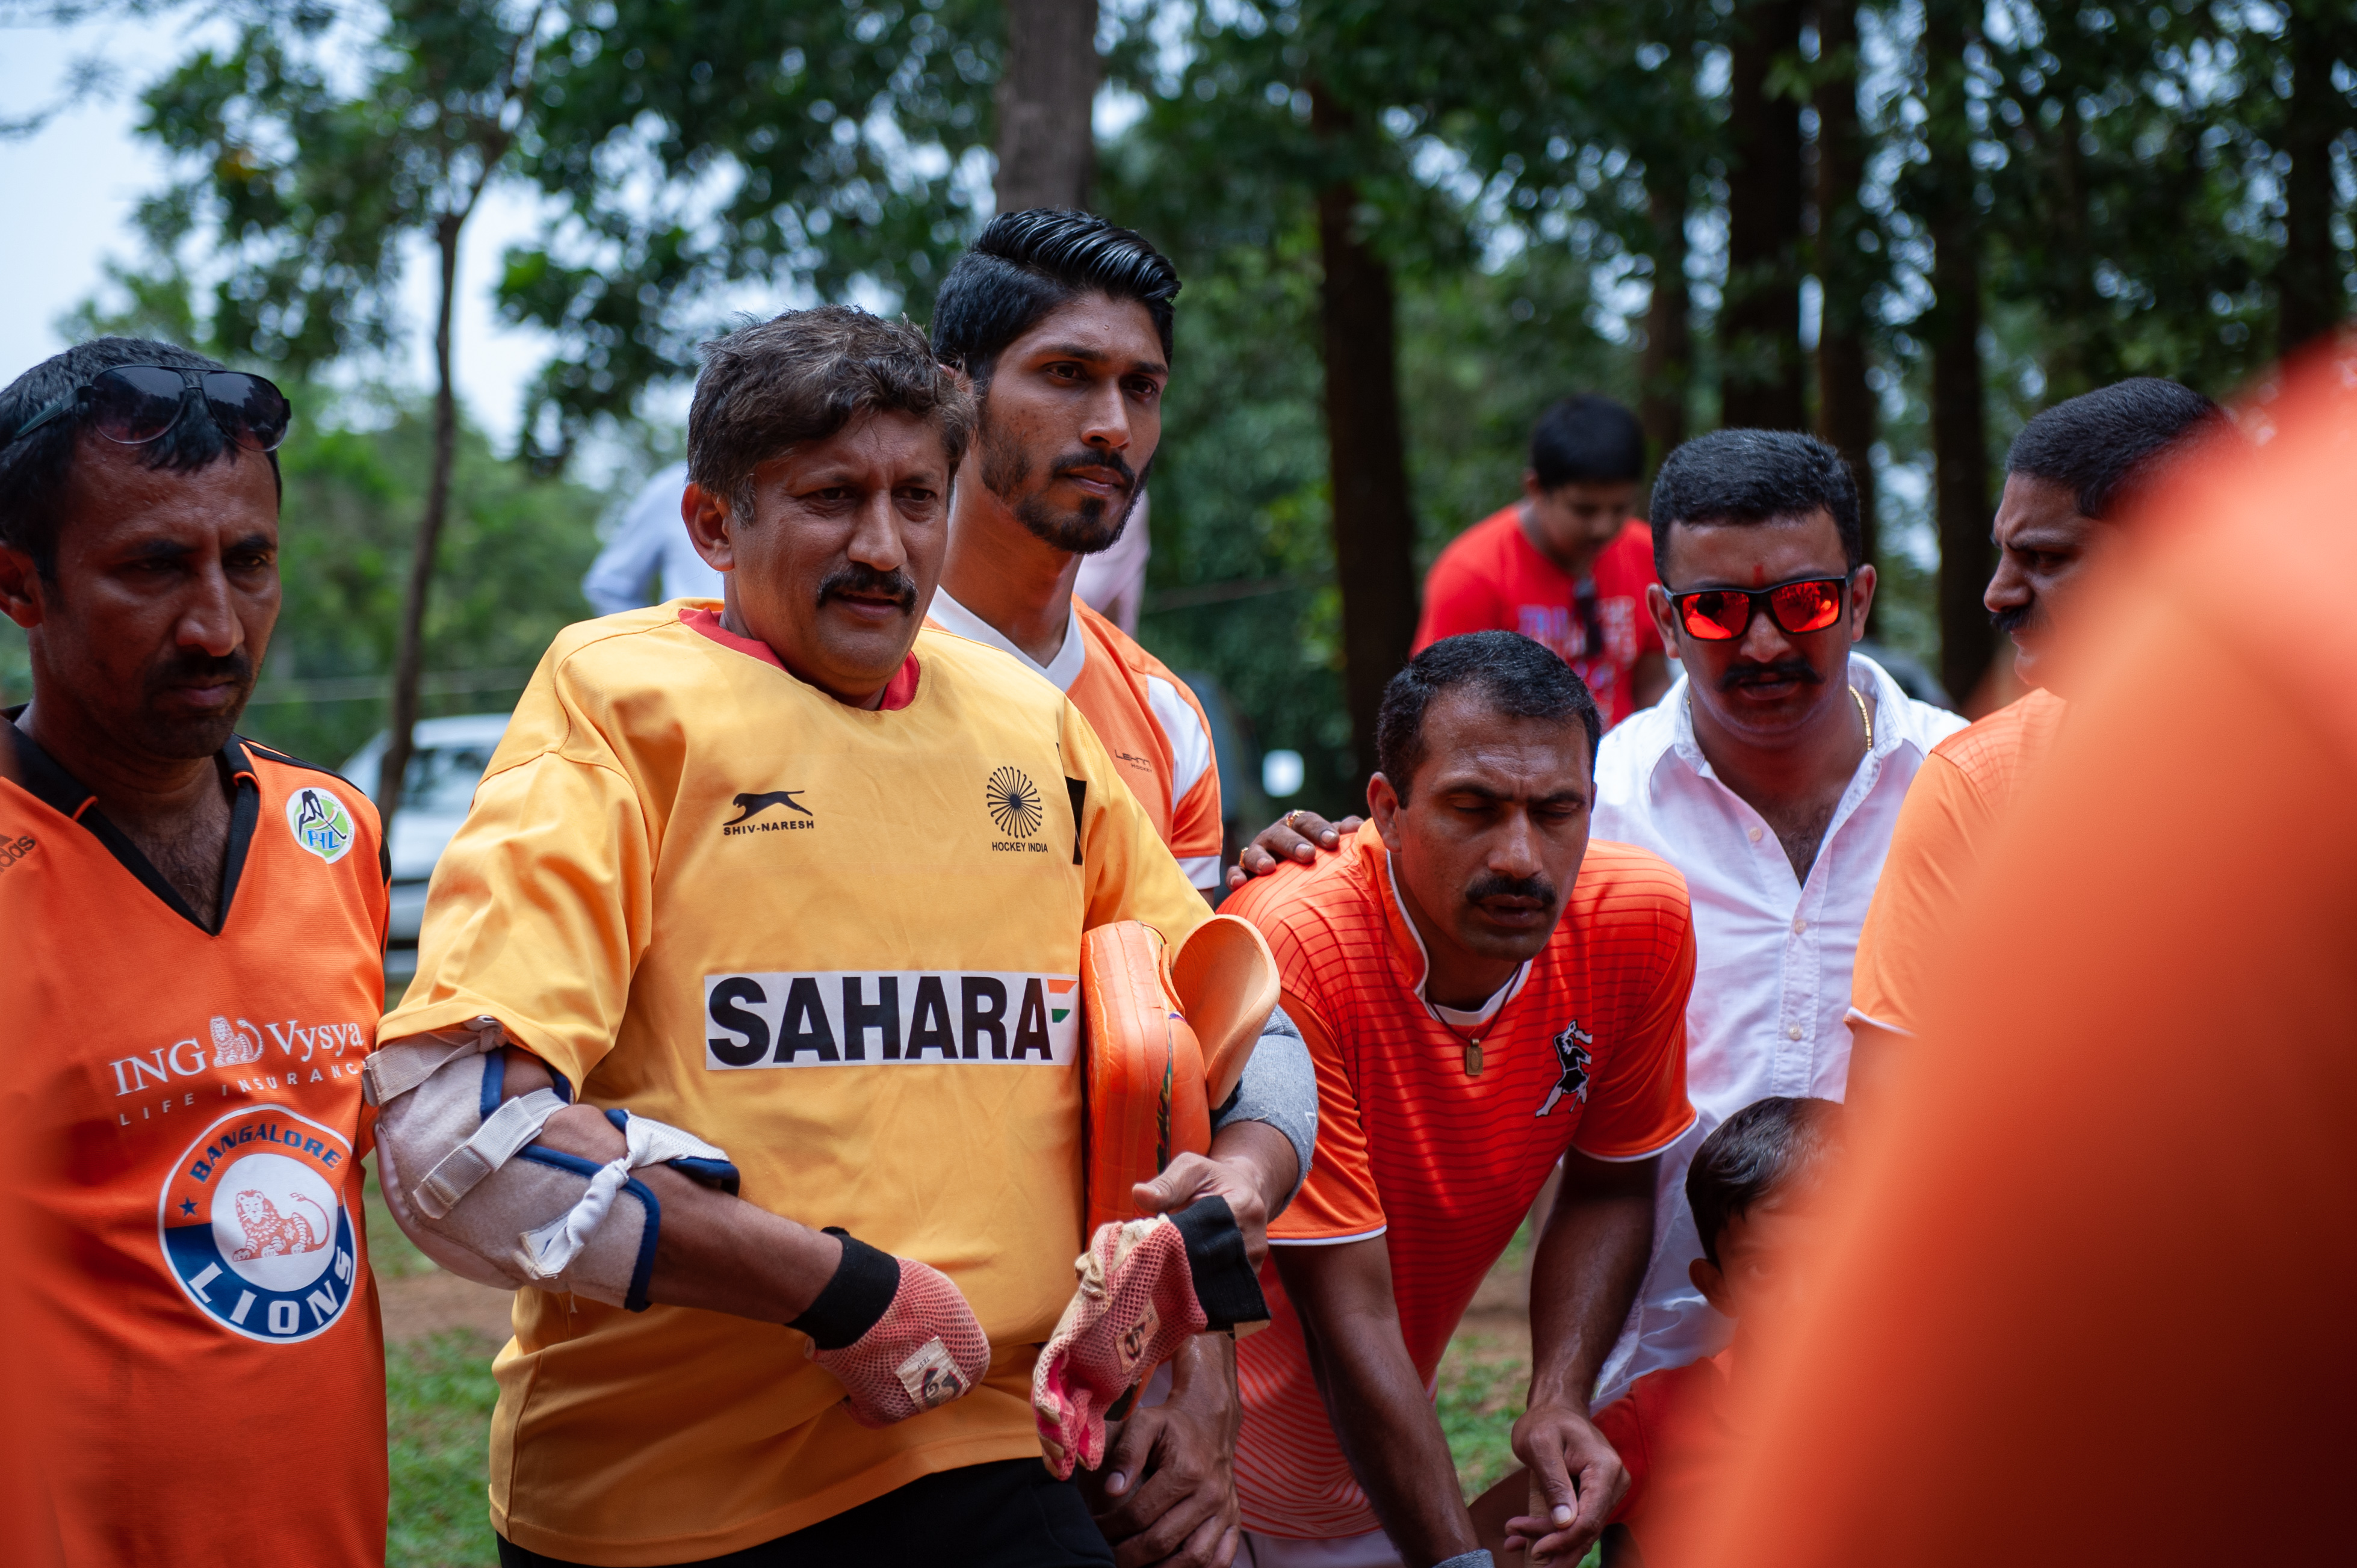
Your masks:
M 1968 700 L 1989 670 L 1996 632 L 1989 585 L 1989 434 L 1980 368 L 1980 210 L 1966 123 L 1966 5 L 1923 7 L 1930 141 L 1930 450 L 1940 528 L 1940 684 Z

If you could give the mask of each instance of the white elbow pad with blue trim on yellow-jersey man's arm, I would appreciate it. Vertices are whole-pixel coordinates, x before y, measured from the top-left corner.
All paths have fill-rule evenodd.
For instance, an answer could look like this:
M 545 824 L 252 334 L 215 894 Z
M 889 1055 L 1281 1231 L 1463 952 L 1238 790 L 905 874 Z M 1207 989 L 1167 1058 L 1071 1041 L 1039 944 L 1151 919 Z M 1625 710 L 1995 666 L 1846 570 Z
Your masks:
M 712 1144 L 627 1111 L 606 1113 L 627 1144 L 620 1160 L 596 1165 L 542 1148 L 533 1139 L 566 1096 L 535 1089 L 500 1103 L 504 1045 L 497 1019 L 474 1019 L 396 1040 L 363 1063 L 394 1224 L 420 1252 L 478 1285 L 530 1285 L 646 1311 L 662 1205 L 629 1172 L 672 1165 L 733 1193 L 735 1167 Z

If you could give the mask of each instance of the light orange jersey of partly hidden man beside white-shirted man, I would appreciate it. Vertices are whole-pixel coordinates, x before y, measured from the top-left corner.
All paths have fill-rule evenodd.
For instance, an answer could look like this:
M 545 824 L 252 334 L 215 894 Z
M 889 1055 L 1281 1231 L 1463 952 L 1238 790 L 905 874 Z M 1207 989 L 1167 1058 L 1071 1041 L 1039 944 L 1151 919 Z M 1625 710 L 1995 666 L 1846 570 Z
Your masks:
M 1996 823 L 2062 726 L 2062 698 L 2032 691 L 1923 759 L 1890 832 L 1890 856 L 1857 936 L 1850 1016 L 1916 1033 L 1923 979 L 1954 941 Z

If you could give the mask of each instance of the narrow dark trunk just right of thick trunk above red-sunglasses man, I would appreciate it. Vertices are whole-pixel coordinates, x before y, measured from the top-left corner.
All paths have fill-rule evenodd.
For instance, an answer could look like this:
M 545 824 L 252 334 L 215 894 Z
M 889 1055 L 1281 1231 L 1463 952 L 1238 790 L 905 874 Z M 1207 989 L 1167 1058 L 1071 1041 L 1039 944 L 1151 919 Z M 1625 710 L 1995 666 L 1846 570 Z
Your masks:
M 1867 384 L 1867 278 L 1857 259 L 1864 210 L 1864 146 L 1857 137 L 1857 14 L 1848 0 L 1817 5 L 1817 436 L 1857 474 L 1857 521 L 1874 559 L 1874 389 Z

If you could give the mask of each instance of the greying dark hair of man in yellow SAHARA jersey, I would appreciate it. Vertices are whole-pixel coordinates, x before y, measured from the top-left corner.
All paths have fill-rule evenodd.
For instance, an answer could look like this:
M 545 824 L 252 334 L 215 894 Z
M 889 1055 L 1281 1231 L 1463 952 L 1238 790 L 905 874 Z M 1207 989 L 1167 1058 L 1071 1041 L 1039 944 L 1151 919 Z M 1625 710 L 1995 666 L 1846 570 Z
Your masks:
M 754 321 L 705 344 L 688 406 L 688 479 L 752 516 L 752 472 L 856 415 L 931 420 L 950 472 L 973 439 L 973 398 L 907 321 L 820 304 Z

